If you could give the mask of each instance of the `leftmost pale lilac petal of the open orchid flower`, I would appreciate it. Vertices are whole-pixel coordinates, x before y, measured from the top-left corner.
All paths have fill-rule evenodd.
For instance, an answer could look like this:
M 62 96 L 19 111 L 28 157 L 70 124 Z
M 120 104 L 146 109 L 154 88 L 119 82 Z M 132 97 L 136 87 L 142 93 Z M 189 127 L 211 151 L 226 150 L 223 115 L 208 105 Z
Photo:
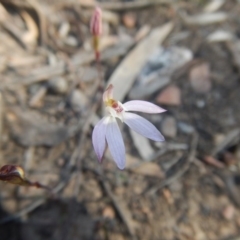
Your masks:
M 109 117 L 102 118 L 93 129 L 92 143 L 98 161 L 102 161 L 103 153 L 106 148 L 106 129 Z

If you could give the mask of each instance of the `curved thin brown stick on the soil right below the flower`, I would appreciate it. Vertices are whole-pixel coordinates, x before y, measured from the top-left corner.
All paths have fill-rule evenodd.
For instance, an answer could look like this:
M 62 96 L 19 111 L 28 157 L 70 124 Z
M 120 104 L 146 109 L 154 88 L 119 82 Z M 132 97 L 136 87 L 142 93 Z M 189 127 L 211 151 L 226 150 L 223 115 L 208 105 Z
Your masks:
M 175 175 L 165 179 L 160 185 L 149 189 L 147 191 L 147 194 L 153 195 L 158 190 L 162 189 L 163 187 L 174 182 L 176 179 L 180 178 L 188 170 L 190 164 L 194 161 L 195 155 L 196 155 L 197 144 L 198 144 L 198 134 L 195 132 L 195 133 L 193 133 L 193 136 L 192 136 L 190 151 L 189 151 L 189 154 L 187 157 L 187 162 L 185 163 L 185 165 Z

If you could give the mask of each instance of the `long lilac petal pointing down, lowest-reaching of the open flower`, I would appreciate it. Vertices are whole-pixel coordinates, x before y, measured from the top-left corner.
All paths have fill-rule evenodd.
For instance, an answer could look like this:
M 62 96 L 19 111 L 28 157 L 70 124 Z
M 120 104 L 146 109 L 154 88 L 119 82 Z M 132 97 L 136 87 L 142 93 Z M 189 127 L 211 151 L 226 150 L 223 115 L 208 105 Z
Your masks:
M 118 168 L 124 169 L 125 146 L 117 121 L 113 117 L 107 125 L 106 139 L 113 160 L 116 162 Z

